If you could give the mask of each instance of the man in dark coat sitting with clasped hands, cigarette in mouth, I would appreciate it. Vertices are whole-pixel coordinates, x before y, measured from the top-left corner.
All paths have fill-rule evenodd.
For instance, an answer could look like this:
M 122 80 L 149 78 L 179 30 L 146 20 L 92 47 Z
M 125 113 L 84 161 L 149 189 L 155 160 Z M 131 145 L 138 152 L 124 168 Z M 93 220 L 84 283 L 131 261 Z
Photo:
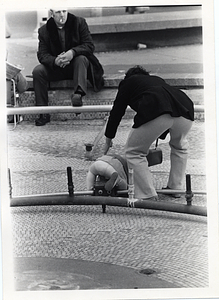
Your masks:
M 82 106 L 87 79 L 94 91 L 103 86 L 103 68 L 94 52 L 94 44 L 84 18 L 65 9 L 51 9 L 51 18 L 39 28 L 37 57 L 40 65 L 33 70 L 33 87 L 37 106 L 48 105 L 50 81 L 72 79 L 73 106 Z M 50 115 L 40 115 L 36 126 L 50 122 Z

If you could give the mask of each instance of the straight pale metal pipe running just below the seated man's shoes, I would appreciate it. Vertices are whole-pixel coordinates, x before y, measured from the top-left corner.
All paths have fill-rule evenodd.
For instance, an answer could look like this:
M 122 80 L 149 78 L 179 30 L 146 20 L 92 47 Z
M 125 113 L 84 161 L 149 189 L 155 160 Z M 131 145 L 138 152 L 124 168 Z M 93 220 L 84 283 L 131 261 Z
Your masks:
M 73 106 L 28 106 L 28 107 L 8 107 L 7 115 L 25 114 L 55 114 L 55 113 L 80 113 L 80 112 L 109 112 L 112 105 L 85 105 L 81 107 Z M 132 111 L 130 107 L 128 111 Z M 195 105 L 195 112 L 204 112 L 204 105 Z

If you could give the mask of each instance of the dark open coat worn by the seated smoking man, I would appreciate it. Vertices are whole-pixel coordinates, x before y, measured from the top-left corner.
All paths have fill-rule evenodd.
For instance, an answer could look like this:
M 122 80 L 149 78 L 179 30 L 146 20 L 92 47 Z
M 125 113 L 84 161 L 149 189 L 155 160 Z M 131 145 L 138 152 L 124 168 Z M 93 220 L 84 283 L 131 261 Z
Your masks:
M 39 28 L 39 48 L 37 57 L 39 62 L 51 69 L 57 68 L 56 57 L 62 52 L 58 36 L 58 29 L 53 18 Z M 95 91 L 103 86 L 103 68 L 94 52 L 94 44 L 84 18 L 68 13 L 65 23 L 65 51 L 74 50 L 75 56 L 84 55 L 90 61 L 88 79 Z

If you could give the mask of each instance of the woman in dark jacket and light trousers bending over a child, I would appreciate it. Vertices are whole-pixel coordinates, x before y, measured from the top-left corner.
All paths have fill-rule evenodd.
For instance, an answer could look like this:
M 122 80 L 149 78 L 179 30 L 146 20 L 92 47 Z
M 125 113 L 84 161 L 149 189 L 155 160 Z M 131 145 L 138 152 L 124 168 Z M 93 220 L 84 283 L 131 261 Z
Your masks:
M 104 154 L 109 150 L 127 106 L 136 112 L 125 146 L 128 167 L 134 173 L 135 198 L 157 199 L 146 156 L 151 144 L 168 133 L 171 168 L 166 188 L 181 190 L 188 156 L 186 137 L 194 121 L 193 102 L 181 90 L 150 75 L 143 67 L 129 69 L 119 85 L 107 122 Z

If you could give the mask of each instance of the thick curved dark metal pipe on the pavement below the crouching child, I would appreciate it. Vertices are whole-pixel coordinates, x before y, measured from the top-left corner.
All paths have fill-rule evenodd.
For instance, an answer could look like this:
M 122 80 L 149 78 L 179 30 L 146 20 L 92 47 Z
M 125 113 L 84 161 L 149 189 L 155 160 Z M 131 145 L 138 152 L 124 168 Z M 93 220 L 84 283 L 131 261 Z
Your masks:
M 132 207 L 170 211 L 176 213 L 193 214 L 200 216 L 207 216 L 206 207 L 189 206 L 178 203 L 169 203 L 162 201 L 149 201 L 121 197 L 107 197 L 107 196 L 69 196 L 63 195 L 45 195 L 45 196 L 28 196 L 28 197 L 13 197 L 10 200 L 11 207 L 17 206 L 41 206 L 41 205 L 109 205 L 120 207 Z

